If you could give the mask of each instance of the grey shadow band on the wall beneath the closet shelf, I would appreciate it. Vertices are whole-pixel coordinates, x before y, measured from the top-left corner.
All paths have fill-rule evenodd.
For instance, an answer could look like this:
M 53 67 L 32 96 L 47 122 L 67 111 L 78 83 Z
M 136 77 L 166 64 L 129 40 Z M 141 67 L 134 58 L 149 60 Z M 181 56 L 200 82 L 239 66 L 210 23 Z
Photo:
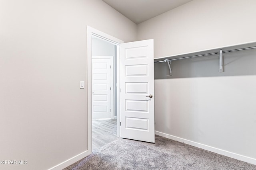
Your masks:
M 192 78 L 256 75 L 256 50 L 225 53 L 224 72 L 219 72 L 218 55 L 172 61 L 172 76 L 166 62 L 154 64 L 154 78 Z

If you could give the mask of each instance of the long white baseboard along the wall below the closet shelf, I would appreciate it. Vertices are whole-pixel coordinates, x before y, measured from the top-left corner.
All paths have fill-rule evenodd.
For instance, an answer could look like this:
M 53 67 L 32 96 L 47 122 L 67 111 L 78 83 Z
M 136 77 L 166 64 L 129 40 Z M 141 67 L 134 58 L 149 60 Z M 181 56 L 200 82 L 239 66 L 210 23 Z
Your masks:
M 236 153 L 233 153 L 233 152 L 229 152 L 229 151 L 218 149 L 218 148 L 214 148 L 214 147 L 210 147 L 208 145 L 204 145 L 204 144 L 201 144 L 201 143 L 193 142 L 193 141 L 190 141 L 190 140 L 187 140 L 187 139 L 183 139 L 183 138 L 180 138 L 180 137 L 176 137 L 176 136 L 169 135 L 169 134 L 162 133 L 162 132 L 158 132 L 158 131 L 155 131 L 155 134 L 159 135 L 161 137 L 166 137 L 168 139 L 172 139 L 174 141 L 179 141 L 179 142 L 182 142 L 182 143 L 186 143 L 186 144 L 192 145 L 194 147 L 198 147 L 198 148 L 201 148 L 201 149 L 209 150 L 209 151 L 214 152 L 214 153 L 222 154 L 222 155 L 228 156 L 230 158 L 234 158 L 234 159 L 237 159 L 237 160 L 242 160 L 244 162 L 248 162 L 250 164 L 256 165 L 256 159 L 250 158 L 248 156 L 236 154 Z

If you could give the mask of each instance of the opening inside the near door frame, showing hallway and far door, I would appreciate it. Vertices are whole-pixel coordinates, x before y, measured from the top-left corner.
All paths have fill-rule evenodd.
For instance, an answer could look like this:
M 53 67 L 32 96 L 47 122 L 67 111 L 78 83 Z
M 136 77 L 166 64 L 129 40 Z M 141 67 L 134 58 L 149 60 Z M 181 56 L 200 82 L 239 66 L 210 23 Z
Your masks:
M 92 35 L 92 151 L 118 138 L 116 49 Z

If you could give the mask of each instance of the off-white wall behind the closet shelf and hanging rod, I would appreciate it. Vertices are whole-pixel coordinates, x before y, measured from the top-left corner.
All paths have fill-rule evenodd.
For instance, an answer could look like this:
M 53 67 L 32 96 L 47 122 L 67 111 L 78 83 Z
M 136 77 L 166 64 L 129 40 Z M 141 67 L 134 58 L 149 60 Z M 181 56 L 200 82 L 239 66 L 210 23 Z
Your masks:
M 138 24 L 138 40 L 154 39 L 155 58 L 256 41 L 255 6 L 193 0 Z M 155 64 L 158 134 L 256 164 L 255 56 L 225 54 L 223 73 L 218 57 L 174 61 L 172 76 Z

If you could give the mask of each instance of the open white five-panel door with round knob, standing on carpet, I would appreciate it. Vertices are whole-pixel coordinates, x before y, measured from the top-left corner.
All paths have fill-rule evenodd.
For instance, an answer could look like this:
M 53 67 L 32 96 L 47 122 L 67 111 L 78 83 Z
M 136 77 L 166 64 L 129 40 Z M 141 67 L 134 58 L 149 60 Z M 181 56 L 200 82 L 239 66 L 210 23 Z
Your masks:
M 153 39 L 120 44 L 122 138 L 155 142 L 153 47 Z

